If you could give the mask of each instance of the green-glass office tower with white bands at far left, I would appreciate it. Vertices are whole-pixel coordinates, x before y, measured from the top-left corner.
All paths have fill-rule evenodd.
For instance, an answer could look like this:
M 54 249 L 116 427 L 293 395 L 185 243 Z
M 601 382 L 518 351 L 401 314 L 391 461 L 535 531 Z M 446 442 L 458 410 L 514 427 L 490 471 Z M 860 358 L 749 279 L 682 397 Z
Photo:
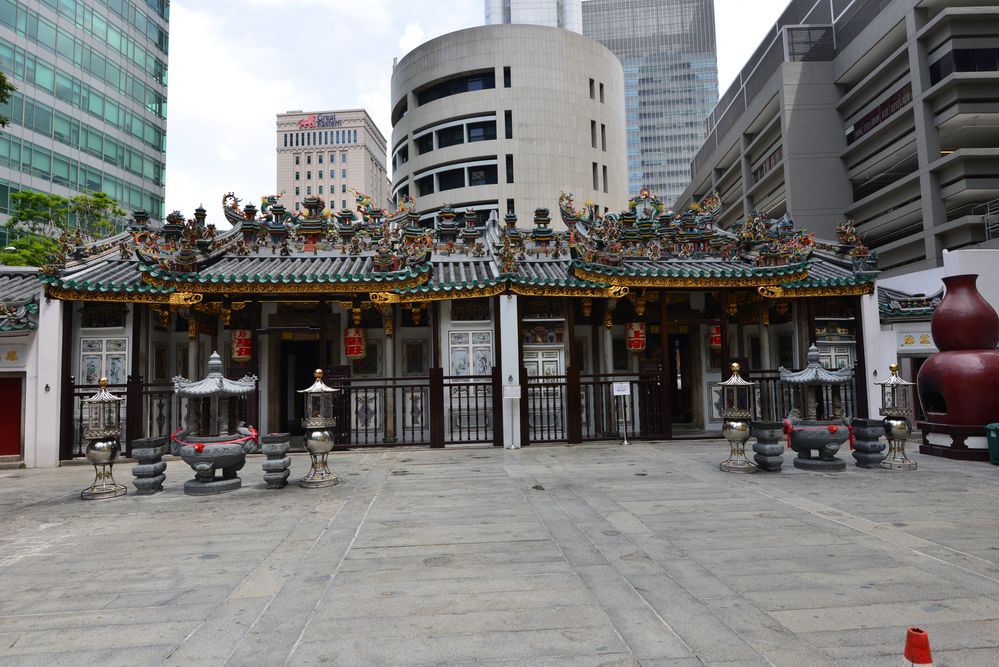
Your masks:
M 0 224 L 10 194 L 102 191 L 163 218 L 168 0 L 0 0 Z

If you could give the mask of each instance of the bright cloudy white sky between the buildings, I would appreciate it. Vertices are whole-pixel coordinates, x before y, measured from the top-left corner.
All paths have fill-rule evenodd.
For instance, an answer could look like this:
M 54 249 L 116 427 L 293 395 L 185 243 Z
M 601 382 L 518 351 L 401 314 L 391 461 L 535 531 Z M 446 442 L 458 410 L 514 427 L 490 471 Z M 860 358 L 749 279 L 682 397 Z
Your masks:
M 724 91 L 787 0 L 715 0 Z M 482 0 L 173 0 L 166 210 L 274 190 L 275 114 L 363 107 L 386 138 L 392 59 L 481 25 Z

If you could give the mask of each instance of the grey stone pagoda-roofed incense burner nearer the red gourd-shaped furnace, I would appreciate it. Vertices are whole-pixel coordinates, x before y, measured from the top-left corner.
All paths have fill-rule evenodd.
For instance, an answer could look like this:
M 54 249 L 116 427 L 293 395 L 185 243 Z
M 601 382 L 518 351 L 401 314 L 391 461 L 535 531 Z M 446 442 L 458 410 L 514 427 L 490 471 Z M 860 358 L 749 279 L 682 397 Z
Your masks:
M 791 411 L 785 422 L 791 449 L 798 453 L 794 467 L 841 472 L 846 461 L 836 458 L 850 439 L 850 421 L 843 411 L 846 385 L 853 369 L 829 370 L 819 363 L 819 350 L 808 348 L 808 365 L 800 371 L 780 369 L 780 381 L 791 393 Z M 818 455 L 813 458 L 813 452 Z

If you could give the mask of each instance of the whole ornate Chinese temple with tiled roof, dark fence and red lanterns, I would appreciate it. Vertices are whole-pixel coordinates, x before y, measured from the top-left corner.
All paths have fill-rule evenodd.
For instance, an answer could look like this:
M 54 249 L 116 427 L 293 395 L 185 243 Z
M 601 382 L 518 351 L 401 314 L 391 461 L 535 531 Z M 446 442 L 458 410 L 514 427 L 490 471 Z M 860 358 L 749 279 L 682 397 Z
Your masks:
M 876 259 L 852 226 L 820 241 L 787 218 L 722 230 L 709 197 L 682 213 L 643 191 L 620 214 L 558 201 L 529 227 L 444 209 L 421 221 L 364 195 L 298 214 L 222 201 L 94 245 L 63 238 L 39 274 L 63 301 L 58 456 L 82 454 L 80 399 L 100 377 L 126 398 L 124 440 L 168 435 L 173 378 L 255 375 L 247 422 L 301 433 L 297 390 L 322 369 L 338 447 L 519 447 L 717 436 L 714 386 L 738 361 L 762 418 L 778 419 L 778 368 L 816 344 L 822 365 L 865 377 L 860 296 Z M 430 225 L 430 226 L 428 226 Z M 557 229 L 556 229 L 557 227 Z M 867 416 L 864 383 L 844 392 Z

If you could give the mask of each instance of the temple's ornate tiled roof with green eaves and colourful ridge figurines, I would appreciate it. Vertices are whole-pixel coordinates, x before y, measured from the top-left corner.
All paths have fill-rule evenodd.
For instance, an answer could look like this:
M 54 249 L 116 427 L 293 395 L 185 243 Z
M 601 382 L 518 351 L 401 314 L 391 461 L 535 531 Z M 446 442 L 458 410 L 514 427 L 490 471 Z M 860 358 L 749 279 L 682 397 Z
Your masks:
M 366 294 L 382 303 L 519 294 L 617 298 L 636 287 L 748 288 L 765 296 L 860 294 L 873 289 L 876 257 L 852 226 L 837 242 L 816 240 L 788 218 L 751 216 L 715 226 L 716 199 L 681 215 L 641 193 L 619 215 L 576 211 L 559 200 L 567 231 L 547 209 L 533 229 L 446 209 L 424 228 L 406 198 L 391 214 L 357 197 L 357 210 L 333 213 L 317 197 L 291 214 L 276 196 L 258 209 L 231 193 L 219 231 L 198 208 L 175 212 L 158 229 L 137 212 L 129 231 L 87 246 L 61 239 L 60 256 L 40 279 L 57 298 L 173 303 L 211 294 Z M 321 210 L 322 209 L 322 210 Z M 767 290 L 765 293 L 763 290 Z M 202 298 L 197 296 L 198 299 Z

